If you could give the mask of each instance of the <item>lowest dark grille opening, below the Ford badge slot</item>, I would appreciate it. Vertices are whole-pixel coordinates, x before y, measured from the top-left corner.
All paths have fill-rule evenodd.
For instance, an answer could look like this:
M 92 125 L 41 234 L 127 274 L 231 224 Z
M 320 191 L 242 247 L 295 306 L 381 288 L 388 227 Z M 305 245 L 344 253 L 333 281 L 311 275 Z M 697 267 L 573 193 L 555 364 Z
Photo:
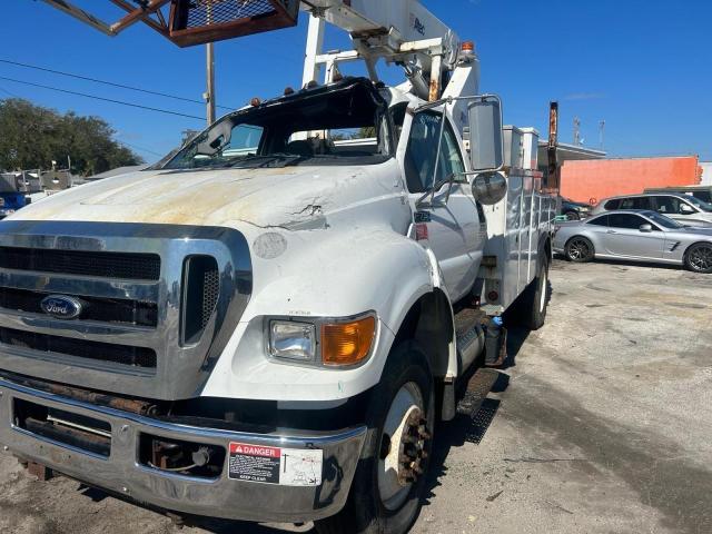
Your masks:
M 156 368 L 156 353 L 144 347 L 87 342 L 3 327 L 0 327 L 0 344 L 130 367 Z

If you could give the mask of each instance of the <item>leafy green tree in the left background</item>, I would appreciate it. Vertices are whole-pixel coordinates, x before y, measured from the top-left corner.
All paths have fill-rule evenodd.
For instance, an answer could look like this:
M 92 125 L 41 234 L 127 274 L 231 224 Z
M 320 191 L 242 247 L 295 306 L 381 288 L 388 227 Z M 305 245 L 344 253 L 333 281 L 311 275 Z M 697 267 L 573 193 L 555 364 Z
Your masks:
M 22 99 L 0 100 L 0 169 L 48 169 L 71 158 L 73 174 L 90 176 L 142 159 L 113 140 L 99 117 L 65 115 Z

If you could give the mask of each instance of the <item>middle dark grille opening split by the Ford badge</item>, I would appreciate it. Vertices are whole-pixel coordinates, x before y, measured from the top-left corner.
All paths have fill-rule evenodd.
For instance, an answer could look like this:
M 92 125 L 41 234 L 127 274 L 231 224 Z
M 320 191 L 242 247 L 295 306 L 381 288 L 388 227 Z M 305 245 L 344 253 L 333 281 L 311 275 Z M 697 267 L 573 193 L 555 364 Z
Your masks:
M 0 287 L 0 308 L 13 312 L 43 314 L 44 312 L 40 304 L 42 299 L 49 295 L 49 293 Z M 85 305 L 85 309 L 77 319 L 150 327 L 155 327 L 158 323 L 158 307 L 156 303 L 78 295 L 67 296 L 75 296 Z

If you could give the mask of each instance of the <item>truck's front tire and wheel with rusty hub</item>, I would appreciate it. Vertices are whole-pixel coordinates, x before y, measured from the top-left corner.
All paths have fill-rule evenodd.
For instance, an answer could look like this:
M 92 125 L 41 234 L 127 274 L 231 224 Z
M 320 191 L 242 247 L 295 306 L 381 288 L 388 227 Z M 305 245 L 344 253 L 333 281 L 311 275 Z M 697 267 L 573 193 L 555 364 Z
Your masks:
M 435 427 L 425 353 L 405 342 L 388 356 L 366 412 L 368 433 L 346 506 L 319 534 L 405 534 L 421 512 Z

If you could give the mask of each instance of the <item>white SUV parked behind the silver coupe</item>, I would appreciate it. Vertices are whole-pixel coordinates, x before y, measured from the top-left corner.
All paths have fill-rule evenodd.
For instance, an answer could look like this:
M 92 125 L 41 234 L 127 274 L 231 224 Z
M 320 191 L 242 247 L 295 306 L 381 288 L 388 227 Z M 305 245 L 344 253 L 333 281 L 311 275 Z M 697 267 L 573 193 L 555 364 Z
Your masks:
M 650 209 L 685 226 L 712 227 L 712 204 L 685 194 L 652 192 L 606 198 L 599 202 L 593 215 L 621 209 Z

